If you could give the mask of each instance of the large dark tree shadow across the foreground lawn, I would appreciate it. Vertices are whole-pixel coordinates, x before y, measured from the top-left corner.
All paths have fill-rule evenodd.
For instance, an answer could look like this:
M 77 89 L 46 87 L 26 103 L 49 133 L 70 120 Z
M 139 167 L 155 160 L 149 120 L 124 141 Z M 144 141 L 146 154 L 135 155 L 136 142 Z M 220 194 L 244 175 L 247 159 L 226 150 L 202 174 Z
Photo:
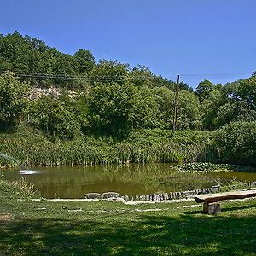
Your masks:
M 23 219 L 0 224 L 2 255 L 255 255 L 256 216 L 136 221 Z

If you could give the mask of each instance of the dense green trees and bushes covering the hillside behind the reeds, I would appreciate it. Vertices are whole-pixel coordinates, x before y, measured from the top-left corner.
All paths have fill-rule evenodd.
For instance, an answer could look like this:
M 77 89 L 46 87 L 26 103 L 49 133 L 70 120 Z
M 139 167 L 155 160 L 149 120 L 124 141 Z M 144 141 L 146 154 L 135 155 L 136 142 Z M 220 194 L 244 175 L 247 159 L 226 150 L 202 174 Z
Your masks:
M 15 32 L 0 35 L 0 73 L 2 130 L 22 122 L 56 142 L 81 135 L 119 140 L 138 129 L 172 129 L 176 83 L 148 67 L 131 68 L 106 60 L 96 63 L 90 50 L 68 55 Z M 255 121 L 256 73 L 224 85 L 204 80 L 195 92 L 180 83 L 177 130 L 215 131 L 231 124 L 218 132 L 220 161 L 235 161 L 236 150 L 255 143 Z M 250 134 L 244 130 L 247 125 Z M 236 130 L 244 146 L 233 140 Z M 224 135 L 227 144 L 221 144 Z M 231 144 L 233 151 L 228 148 Z M 255 164 L 252 147 L 245 149 L 241 159 Z

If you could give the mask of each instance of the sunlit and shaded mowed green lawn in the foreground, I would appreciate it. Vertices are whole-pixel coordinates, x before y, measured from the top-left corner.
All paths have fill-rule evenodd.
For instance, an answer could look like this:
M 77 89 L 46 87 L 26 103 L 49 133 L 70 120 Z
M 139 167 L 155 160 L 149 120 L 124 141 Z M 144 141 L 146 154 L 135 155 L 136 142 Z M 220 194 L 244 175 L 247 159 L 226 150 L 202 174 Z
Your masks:
M 256 199 L 223 201 L 209 216 L 195 201 L 32 201 L 0 190 L 0 206 L 0 255 L 256 255 Z

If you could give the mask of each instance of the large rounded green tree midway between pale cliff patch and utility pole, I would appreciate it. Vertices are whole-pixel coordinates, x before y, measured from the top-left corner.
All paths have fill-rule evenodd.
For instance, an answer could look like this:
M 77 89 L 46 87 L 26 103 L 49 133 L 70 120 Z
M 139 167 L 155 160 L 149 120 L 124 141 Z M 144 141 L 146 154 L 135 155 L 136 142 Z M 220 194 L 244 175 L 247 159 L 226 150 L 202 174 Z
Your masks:
M 89 96 L 92 131 L 122 137 L 132 129 L 137 89 L 132 84 L 97 83 Z

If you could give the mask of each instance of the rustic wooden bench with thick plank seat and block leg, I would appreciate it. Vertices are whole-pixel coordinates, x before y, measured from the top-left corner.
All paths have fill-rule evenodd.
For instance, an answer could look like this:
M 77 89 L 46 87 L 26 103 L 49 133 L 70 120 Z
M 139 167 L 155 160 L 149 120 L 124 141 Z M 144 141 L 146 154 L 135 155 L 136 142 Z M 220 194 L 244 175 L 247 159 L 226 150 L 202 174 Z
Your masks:
M 217 194 L 195 195 L 195 201 L 203 202 L 203 212 L 208 214 L 216 214 L 220 212 L 220 205 L 218 201 L 230 199 L 244 199 L 247 197 L 256 196 L 256 189 L 254 190 L 239 190 L 230 191 Z

